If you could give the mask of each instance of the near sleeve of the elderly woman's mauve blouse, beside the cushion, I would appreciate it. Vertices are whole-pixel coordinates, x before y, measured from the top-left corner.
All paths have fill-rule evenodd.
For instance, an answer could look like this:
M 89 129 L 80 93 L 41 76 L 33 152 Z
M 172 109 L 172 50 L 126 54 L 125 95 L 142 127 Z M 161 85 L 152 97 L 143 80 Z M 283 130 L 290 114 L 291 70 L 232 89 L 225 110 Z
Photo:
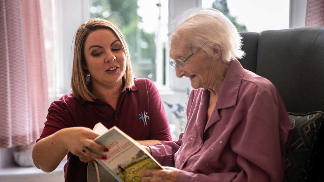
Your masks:
M 274 93 L 257 92 L 255 97 L 241 100 L 236 106 L 240 113 L 233 113 L 233 117 L 239 115 L 241 121 L 232 132 L 229 144 L 237 154 L 237 169 L 208 175 L 181 170 L 176 181 L 283 181 L 291 125 L 278 92 Z

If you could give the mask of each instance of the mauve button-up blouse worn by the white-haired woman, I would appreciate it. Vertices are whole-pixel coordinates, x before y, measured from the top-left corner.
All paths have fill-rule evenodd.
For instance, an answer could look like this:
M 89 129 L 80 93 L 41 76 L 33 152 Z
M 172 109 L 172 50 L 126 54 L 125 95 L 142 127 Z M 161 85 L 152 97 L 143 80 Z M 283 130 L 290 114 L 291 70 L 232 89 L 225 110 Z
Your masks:
M 275 86 L 235 59 L 206 120 L 209 96 L 191 92 L 184 134 L 149 146 L 153 157 L 180 169 L 179 182 L 283 181 L 291 123 Z

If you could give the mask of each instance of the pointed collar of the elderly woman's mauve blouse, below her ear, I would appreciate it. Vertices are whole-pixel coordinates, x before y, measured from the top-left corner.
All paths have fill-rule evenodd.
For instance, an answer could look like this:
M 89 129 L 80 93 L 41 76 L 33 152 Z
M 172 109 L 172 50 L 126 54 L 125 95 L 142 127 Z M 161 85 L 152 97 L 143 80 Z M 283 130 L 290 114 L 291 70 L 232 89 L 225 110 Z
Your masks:
M 229 108 L 237 103 L 238 91 L 242 82 L 244 69 L 237 59 L 233 59 L 228 67 L 224 81 L 221 85 L 216 108 Z

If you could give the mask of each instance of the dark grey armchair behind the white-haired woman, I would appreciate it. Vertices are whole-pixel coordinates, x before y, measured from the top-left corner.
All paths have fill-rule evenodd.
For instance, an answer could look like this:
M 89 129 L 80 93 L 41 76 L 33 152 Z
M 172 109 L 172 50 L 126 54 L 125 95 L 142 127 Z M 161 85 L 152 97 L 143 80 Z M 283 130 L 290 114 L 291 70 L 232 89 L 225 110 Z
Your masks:
M 324 27 L 240 33 L 246 52 L 240 63 L 277 87 L 288 112 L 324 111 Z M 324 181 L 324 126 L 319 126 L 305 181 Z

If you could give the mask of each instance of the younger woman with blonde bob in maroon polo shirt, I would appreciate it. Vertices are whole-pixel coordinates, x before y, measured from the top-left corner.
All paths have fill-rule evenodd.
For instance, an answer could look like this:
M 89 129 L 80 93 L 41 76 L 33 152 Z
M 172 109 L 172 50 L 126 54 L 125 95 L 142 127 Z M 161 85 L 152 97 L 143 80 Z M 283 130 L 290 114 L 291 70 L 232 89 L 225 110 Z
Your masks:
M 90 19 L 76 31 L 71 87 L 72 93 L 51 104 L 34 146 L 41 170 L 53 171 L 67 155 L 65 181 L 87 181 L 87 162 L 106 158 L 87 147 L 108 152 L 93 141 L 98 134 L 91 129 L 98 122 L 117 126 L 143 145 L 171 140 L 156 87 L 133 78 L 126 41 L 110 22 Z

